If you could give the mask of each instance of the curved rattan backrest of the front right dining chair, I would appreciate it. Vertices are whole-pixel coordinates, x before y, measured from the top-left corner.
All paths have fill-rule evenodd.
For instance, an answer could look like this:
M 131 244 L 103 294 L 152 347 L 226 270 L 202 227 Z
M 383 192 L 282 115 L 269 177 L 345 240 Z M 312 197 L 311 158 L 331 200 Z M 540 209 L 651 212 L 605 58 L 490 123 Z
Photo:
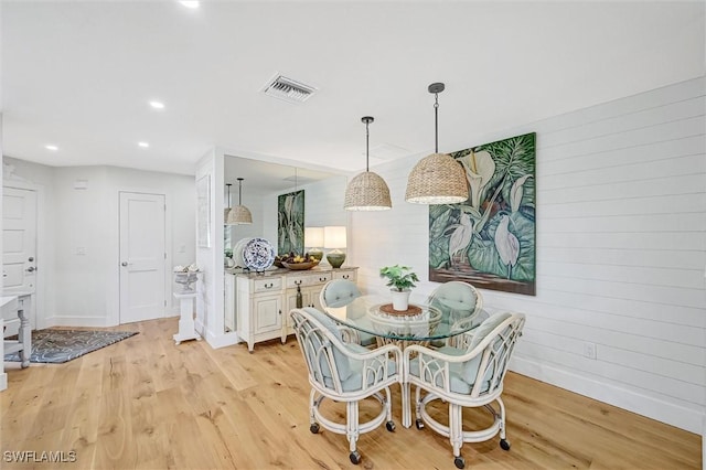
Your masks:
M 494 393 L 502 387 L 524 323 L 524 314 L 504 312 L 491 316 L 473 330 L 468 349 L 471 359 L 462 370 L 463 380 L 472 384 L 471 396 Z

